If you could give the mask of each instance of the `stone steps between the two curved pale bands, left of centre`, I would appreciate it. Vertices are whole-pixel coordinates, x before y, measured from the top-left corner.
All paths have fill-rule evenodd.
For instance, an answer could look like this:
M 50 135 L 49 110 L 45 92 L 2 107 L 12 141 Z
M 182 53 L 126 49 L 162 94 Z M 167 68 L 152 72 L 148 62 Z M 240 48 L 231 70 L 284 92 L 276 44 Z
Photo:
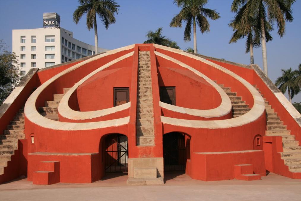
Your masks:
M 69 90 L 70 88 L 64 88 L 64 94 Z M 58 104 L 60 103 L 64 94 L 54 94 L 53 101 L 45 101 L 45 107 L 40 107 L 39 113 L 48 119 L 59 121 Z

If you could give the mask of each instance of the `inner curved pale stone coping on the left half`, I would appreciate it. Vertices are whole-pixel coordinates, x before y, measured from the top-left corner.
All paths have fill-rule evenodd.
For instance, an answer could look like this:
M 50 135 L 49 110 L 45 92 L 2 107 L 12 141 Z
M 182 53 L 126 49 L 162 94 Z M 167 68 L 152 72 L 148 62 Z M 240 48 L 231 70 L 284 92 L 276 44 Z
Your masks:
M 77 83 L 75 83 L 70 90 L 63 96 L 61 99 L 61 102 L 59 103 L 58 106 L 58 112 L 62 117 L 68 118 L 68 119 L 73 119 L 73 120 L 85 120 L 85 119 L 93 119 L 101 116 L 106 116 L 109 114 L 116 113 L 118 111 L 123 111 L 125 109 L 128 109 L 131 106 L 131 102 L 127 102 L 126 104 L 123 105 L 118 105 L 116 107 L 111 107 L 111 108 L 106 108 L 102 110 L 96 110 L 96 111 L 76 111 L 70 108 L 68 102 L 70 99 L 70 96 L 76 91 L 76 89 L 82 85 L 85 81 L 87 81 L 90 77 L 93 75 L 97 74 L 98 72 L 110 67 L 113 64 L 116 64 L 119 61 L 122 61 L 126 58 L 131 57 L 134 54 L 134 52 L 130 52 L 126 55 L 123 55 L 113 61 L 110 61 L 107 64 L 104 64 L 100 68 L 96 69 L 95 71 L 91 72 L 81 80 L 79 80 Z

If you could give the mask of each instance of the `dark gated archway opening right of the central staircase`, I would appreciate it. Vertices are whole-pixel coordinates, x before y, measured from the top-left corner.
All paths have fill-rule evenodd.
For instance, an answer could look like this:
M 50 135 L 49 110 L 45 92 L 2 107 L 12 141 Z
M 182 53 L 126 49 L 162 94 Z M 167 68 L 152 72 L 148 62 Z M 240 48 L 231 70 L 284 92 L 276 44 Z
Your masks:
M 185 171 L 186 148 L 183 133 L 163 135 L 164 171 Z

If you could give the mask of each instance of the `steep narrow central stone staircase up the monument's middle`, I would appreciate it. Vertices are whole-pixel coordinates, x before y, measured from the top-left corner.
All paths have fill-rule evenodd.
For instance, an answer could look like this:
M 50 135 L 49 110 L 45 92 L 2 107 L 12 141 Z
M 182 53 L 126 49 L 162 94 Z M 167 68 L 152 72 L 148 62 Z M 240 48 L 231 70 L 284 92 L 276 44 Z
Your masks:
M 137 145 L 154 146 L 154 105 L 149 51 L 139 51 L 136 131 Z

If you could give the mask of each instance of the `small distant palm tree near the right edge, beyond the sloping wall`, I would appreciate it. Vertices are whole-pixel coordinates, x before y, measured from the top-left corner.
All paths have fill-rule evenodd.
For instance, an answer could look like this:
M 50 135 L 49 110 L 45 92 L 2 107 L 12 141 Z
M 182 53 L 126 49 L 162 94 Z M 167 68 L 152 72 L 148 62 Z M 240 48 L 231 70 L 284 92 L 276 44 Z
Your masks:
M 281 69 L 281 71 L 282 75 L 277 78 L 275 85 L 278 86 L 282 93 L 285 93 L 287 90 L 288 98 L 290 103 L 292 103 L 293 97 L 300 92 L 300 87 L 295 82 L 296 75 L 292 68 L 288 70 Z

